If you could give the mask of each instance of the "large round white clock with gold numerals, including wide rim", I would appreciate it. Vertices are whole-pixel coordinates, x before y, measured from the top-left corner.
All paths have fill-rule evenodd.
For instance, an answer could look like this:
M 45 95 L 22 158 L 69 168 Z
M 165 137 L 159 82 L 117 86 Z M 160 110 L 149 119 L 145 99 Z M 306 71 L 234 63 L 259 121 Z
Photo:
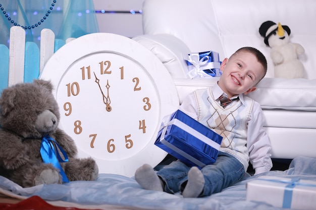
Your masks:
M 52 55 L 39 78 L 55 86 L 61 128 L 99 173 L 133 176 L 166 156 L 154 141 L 162 118 L 178 109 L 178 94 L 166 67 L 138 42 L 84 35 Z

